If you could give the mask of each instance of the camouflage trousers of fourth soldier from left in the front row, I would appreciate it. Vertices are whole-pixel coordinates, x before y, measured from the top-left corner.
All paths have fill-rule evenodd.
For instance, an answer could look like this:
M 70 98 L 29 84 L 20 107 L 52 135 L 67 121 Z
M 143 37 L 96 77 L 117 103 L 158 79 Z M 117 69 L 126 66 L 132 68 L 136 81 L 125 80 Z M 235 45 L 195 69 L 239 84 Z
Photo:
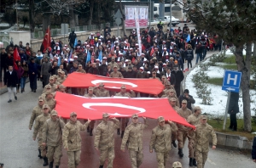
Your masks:
M 143 150 L 135 151 L 135 149 L 129 149 L 129 155 L 131 160 L 131 168 L 138 168 L 143 163 Z

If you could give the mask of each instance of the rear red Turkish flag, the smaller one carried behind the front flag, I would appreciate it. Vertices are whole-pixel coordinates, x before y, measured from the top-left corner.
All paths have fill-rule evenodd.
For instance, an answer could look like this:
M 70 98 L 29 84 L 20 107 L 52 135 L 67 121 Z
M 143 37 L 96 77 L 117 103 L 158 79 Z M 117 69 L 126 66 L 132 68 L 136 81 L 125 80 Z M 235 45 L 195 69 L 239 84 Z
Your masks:
M 145 92 L 148 94 L 159 94 L 164 90 L 164 86 L 159 80 L 112 78 L 95 76 L 92 74 L 82 74 L 78 72 L 73 72 L 72 74 L 68 75 L 67 79 L 63 82 L 63 85 L 65 87 L 95 87 L 98 86 L 99 83 L 104 83 L 105 88 L 115 91 L 119 91 L 122 85 L 125 85 L 127 90 Z

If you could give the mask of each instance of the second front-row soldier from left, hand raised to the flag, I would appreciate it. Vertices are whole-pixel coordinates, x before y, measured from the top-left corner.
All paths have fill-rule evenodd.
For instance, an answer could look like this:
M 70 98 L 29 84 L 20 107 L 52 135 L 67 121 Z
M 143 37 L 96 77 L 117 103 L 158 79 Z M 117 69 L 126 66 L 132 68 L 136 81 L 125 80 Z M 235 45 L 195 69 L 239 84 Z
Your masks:
M 80 162 L 81 154 L 81 136 L 80 131 L 84 131 L 89 125 L 90 120 L 82 125 L 77 120 L 77 114 L 72 112 L 70 120 L 64 126 L 62 133 L 63 146 L 67 150 L 68 168 L 76 168 Z

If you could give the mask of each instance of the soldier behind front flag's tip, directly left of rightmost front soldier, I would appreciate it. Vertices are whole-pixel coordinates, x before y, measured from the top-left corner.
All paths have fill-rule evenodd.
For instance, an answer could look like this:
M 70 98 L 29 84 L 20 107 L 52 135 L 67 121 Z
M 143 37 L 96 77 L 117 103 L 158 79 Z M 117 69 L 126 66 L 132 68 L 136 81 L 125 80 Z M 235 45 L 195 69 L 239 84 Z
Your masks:
M 195 113 L 193 115 L 189 115 L 188 122 L 189 124 L 196 126 L 200 124 L 200 115 L 201 115 L 201 108 L 199 106 L 195 106 Z M 188 132 L 188 139 L 189 139 L 189 166 L 196 166 L 195 161 L 195 131 L 190 129 Z

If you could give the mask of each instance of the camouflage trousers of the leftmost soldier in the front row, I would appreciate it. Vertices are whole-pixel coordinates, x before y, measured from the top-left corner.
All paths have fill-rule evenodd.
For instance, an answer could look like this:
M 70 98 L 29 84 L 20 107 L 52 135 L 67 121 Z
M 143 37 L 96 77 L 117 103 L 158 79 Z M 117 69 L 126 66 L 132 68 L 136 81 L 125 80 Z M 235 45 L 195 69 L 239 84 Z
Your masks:
M 58 145 L 55 147 L 48 146 L 46 157 L 48 158 L 49 162 L 52 162 L 53 160 L 55 160 L 55 165 L 60 165 L 61 156 L 62 156 L 61 145 Z

